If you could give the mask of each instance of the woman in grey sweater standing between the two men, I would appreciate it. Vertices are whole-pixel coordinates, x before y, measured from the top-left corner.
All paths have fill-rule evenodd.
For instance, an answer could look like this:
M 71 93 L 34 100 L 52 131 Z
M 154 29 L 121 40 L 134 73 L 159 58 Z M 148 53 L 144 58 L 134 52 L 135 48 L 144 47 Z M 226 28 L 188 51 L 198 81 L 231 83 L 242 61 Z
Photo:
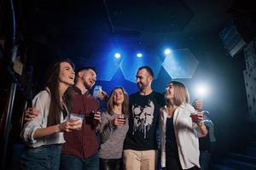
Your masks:
M 124 88 L 113 88 L 108 99 L 107 111 L 102 113 L 101 170 L 121 170 L 125 135 L 128 131 L 129 99 Z

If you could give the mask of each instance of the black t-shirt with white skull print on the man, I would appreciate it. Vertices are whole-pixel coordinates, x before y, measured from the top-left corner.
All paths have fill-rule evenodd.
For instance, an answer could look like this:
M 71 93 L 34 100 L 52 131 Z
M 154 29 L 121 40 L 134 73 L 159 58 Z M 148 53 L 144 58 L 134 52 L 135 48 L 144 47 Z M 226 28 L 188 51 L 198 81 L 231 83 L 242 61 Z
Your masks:
M 129 130 L 124 150 L 157 150 L 156 130 L 159 126 L 160 107 L 165 105 L 163 94 L 153 91 L 148 95 L 130 95 Z

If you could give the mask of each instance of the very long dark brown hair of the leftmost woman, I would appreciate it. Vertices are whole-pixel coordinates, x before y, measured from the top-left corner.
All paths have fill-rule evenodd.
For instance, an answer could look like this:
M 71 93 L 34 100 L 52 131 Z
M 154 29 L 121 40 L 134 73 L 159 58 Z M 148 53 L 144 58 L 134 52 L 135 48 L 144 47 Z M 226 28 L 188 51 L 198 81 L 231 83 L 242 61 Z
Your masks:
M 49 116 L 47 122 L 48 127 L 61 122 L 62 105 L 59 91 L 59 75 L 61 63 L 64 62 L 69 63 L 74 69 L 73 63 L 70 60 L 65 59 L 50 65 L 49 70 L 47 71 L 48 78 L 46 81 L 46 87 L 49 88 L 50 92 Z M 67 106 L 67 110 L 72 111 L 71 94 L 69 93 L 69 90 L 66 90 L 65 94 L 62 96 L 62 99 L 64 104 Z

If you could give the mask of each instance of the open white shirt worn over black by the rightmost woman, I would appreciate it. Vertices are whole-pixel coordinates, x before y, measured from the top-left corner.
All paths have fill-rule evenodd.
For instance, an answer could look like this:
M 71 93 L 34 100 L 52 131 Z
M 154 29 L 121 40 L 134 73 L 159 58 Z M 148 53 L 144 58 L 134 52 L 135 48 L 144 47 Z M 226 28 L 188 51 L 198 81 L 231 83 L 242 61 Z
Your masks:
M 173 115 L 173 127 L 177 141 L 177 152 L 183 169 L 200 167 L 199 141 L 197 137 L 197 125 L 192 122 L 190 113 L 195 111 L 189 104 L 177 107 Z M 160 109 L 161 127 L 161 166 L 166 167 L 166 106 Z

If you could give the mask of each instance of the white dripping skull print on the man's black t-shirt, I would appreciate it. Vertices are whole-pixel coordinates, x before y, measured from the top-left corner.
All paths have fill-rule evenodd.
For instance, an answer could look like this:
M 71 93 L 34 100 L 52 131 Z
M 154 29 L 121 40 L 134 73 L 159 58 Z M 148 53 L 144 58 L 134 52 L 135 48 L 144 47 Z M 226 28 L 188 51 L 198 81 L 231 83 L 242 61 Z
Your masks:
M 134 134 L 137 131 L 140 131 L 144 134 L 144 139 L 147 137 L 147 132 L 150 129 L 153 118 L 154 118 L 154 103 L 151 100 L 148 100 L 147 105 L 132 105 L 133 112 L 133 132 Z

